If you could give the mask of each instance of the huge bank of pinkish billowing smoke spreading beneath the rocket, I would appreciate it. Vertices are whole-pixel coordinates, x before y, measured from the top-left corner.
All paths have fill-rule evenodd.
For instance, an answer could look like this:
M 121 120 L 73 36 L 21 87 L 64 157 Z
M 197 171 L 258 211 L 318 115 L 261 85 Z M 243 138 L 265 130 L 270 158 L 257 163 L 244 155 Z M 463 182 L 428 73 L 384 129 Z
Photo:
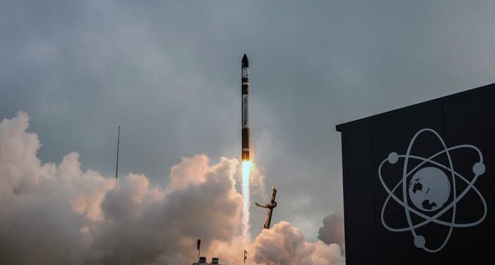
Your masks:
M 182 158 L 167 187 L 144 175 L 83 172 L 77 153 L 42 163 L 28 114 L 0 122 L 0 264 L 191 264 L 202 252 L 241 264 L 341 264 L 338 245 L 305 242 L 286 222 L 240 236 L 238 160 Z

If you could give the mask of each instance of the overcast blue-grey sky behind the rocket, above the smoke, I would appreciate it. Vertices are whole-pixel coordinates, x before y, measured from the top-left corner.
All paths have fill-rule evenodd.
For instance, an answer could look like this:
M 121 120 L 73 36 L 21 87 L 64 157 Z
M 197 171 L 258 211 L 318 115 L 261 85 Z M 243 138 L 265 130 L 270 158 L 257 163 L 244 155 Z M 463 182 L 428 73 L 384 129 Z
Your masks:
M 0 119 L 165 186 L 183 156 L 240 156 L 240 59 L 274 221 L 315 240 L 342 209 L 336 124 L 495 80 L 494 1 L 0 1 Z M 268 194 L 269 195 L 269 194 Z M 252 208 L 252 233 L 265 211 Z

